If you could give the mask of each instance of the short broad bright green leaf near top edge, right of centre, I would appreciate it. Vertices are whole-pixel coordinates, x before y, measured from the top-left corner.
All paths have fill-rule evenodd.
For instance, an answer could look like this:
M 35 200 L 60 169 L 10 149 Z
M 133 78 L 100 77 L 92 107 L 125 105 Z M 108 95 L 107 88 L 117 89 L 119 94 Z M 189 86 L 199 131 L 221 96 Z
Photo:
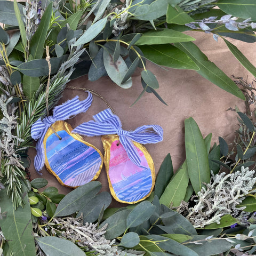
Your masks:
M 185 11 L 181 9 L 178 5 L 172 7 L 170 4 L 167 8 L 166 22 L 174 23 L 179 25 L 184 25 L 194 21 Z

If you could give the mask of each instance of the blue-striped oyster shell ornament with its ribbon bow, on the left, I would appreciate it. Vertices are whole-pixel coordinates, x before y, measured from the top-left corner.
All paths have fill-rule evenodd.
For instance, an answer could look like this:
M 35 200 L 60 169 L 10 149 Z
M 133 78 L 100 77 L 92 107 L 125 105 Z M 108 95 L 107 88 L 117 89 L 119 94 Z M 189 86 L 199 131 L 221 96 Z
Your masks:
M 40 172 L 45 164 L 63 186 L 76 188 L 98 178 L 103 165 L 99 149 L 72 132 L 64 120 L 84 113 L 92 103 L 92 94 L 80 101 L 78 96 L 53 109 L 52 116 L 38 119 L 31 127 L 36 144 L 35 169 Z

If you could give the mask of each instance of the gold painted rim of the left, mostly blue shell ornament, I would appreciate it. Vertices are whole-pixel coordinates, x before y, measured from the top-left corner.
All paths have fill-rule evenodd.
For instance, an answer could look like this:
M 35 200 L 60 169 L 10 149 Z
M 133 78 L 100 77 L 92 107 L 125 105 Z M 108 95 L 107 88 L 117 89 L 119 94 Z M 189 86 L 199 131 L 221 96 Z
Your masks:
M 82 143 L 84 143 L 85 145 L 89 146 L 89 147 L 92 147 L 93 149 L 95 149 L 100 157 L 101 157 L 101 165 L 99 167 L 99 171 L 94 175 L 93 179 L 91 181 L 94 181 L 96 180 L 99 175 L 100 175 L 100 172 L 101 172 L 101 169 L 102 169 L 102 166 L 103 166 L 103 156 L 100 152 L 100 150 L 96 147 L 94 147 L 93 145 L 91 145 L 89 142 L 86 142 L 83 140 L 83 138 L 77 134 L 77 133 L 71 133 L 71 131 L 73 130 L 73 128 L 71 127 L 70 124 L 68 124 L 67 122 L 65 121 L 56 121 L 54 124 L 51 125 L 52 128 L 55 130 L 55 132 L 58 132 L 58 131 L 62 131 L 62 130 L 65 130 L 71 137 L 73 137 L 75 140 L 78 140 Z M 46 140 L 47 138 L 52 135 L 54 132 L 51 128 L 49 128 L 47 130 L 47 132 L 45 133 L 45 136 L 44 136 L 44 140 L 43 140 L 43 144 L 44 144 L 44 156 L 45 156 L 45 167 L 47 169 L 48 172 L 50 172 L 52 175 L 54 175 L 55 178 L 57 178 L 57 180 L 59 181 L 59 183 L 62 185 L 62 186 L 65 186 L 65 187 L 68 187 L 68 188 L 77 188 L 79 186 L 76 186 L 76 187 L 72 187 L 72 186 L 68 186 L 66 185 L 65 183 L 62 182 L 62 180 L 58 177 L 58 175 L 51 169 L 51 166 L 48 162 L 48 159 L 47 159 L 47 156 L 46 156 Z

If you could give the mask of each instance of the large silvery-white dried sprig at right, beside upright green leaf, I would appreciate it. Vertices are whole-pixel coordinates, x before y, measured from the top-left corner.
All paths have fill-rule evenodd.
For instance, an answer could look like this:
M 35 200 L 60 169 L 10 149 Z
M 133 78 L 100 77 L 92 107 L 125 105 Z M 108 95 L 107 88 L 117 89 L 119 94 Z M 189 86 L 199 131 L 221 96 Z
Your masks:
M 249 171 L 248 167 L 242 166 L 241 171 L 229 174 L 212 173 L 210 183 L 205 184 L 206 189 L 202 188 L 195 196 L 196 205 L 188 209 L 186 218 L 195 228 L 202 228 L 214 222 L 220 223 L 225 214 L 237 217 L 245 207 L 237 208 L 236 205 L 242 203 L 249 191 L 252 193 L 255 182 L 254 170 Z

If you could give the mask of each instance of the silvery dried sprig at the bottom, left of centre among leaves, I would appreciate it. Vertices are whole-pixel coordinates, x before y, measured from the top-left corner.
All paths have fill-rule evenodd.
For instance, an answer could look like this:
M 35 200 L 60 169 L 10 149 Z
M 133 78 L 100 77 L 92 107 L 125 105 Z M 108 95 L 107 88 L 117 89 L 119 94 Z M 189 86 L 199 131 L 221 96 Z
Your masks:
M 117 252 L 115 239 L 112 241 L 106 239 L 105 233 L 108 225 L 102 228 L 97 228 L 98 223 L 88 223 L 83 225 L 83 216 L 78 218 L 54 218 L 53 222 L 57 223 L 62 236 L 70 239 L 72 242 L 79 241 L 77 244 L 80 247 L 87 247 L 90 251 L 95 251 L 97 255 L 113 256 Z

